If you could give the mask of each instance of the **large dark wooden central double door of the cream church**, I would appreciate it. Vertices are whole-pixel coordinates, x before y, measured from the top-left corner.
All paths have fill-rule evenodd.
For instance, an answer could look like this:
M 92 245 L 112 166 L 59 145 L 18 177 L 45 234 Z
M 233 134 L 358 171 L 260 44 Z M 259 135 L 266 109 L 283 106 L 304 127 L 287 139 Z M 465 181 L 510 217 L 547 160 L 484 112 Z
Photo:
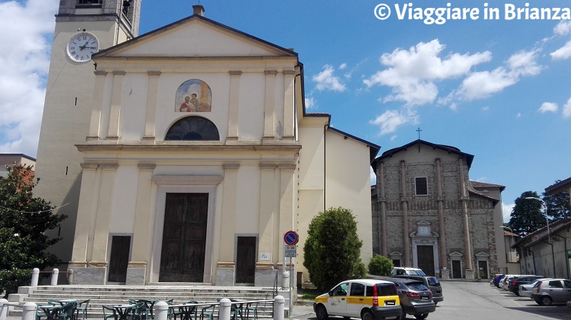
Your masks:
M 161 282 L 203 282 L 208 194 L 166 194 Z

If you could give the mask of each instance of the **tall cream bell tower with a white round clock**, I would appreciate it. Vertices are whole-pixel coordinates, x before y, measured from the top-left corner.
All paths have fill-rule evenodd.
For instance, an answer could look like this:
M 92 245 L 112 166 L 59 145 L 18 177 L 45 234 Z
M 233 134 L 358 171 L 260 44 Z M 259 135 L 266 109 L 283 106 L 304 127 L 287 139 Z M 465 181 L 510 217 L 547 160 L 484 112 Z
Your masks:
M 91 55 L 138 35 L 141 0 L 60 0 L 46 84 L 36 161 L 41 179 L 34 195 L 68 218 L 49 236 L 61 237 L 49 251 L 67 269 L 81 186 L 82 154 L 94 99 L 96 68 Z

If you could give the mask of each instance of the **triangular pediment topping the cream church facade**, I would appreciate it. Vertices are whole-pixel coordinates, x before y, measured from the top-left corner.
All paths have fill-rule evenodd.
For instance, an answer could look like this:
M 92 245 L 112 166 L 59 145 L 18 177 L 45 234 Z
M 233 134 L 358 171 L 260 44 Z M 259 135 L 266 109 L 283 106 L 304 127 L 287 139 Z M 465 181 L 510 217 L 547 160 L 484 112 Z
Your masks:
M 190 16 L 98 52 L 102 57 L 254 57 L 297 56 L 255 36 L 203 16 Z

